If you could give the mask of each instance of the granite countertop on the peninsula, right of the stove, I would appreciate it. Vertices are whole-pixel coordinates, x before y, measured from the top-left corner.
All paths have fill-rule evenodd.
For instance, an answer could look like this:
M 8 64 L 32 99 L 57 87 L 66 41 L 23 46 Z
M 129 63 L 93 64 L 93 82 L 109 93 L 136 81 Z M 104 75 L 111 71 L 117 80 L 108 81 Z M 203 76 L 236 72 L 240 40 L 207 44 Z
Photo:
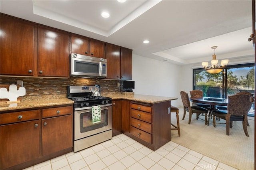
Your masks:
M 127 99 L 127 100 L 139 101 L 139 102 L 151 103 L 151 104 L 178 99 L 177 97 L 163 97 L 163 96 L 139 95 L 139 94 L 131 94 L 131 95 L 106 94 L 105 96 L 111 97 L 112 100 Z

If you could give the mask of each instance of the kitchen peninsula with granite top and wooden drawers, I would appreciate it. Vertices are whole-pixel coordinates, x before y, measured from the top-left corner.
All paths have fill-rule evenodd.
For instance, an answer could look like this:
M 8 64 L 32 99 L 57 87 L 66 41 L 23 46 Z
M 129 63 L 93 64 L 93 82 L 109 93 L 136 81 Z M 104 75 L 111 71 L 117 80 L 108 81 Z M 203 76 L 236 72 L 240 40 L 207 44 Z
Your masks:
M 104 95 L 112 98 L 112 136 L 124 133 L 152 150 L 170 141 L 171 101 L 178 98 L 129 92 Z

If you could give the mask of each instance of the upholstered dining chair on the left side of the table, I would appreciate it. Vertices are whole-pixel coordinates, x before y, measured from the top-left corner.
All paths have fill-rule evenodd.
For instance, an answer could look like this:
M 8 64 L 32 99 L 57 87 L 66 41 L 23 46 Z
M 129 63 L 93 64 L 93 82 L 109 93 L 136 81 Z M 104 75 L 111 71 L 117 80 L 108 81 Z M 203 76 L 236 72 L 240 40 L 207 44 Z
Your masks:
M 185 91 L 180 91 L 180 96 L 181 96 L 183 108 L 184 108 L 184 114 L 183 114 L 182 120 L 184 120 L 184 118 L 186 116 L 186 112 L 189 113 L 188 124 L 191 123 L 191 118 L 192 118 L 193 113 L 196 114 L 196 120 L 198 120 L 198 117 L 200 114 L 205 114 L 205 125 L 207 125 L 208 110 L 203 107 L 199 107 L 199 106 L 190 106 L 188 93 L 186 93 Z

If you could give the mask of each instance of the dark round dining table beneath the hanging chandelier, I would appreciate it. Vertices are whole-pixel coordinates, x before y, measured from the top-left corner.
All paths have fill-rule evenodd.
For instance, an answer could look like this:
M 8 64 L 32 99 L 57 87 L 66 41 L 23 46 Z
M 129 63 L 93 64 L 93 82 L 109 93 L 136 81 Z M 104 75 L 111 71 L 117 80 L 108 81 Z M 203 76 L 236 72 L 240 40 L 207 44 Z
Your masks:
M 216 110 L 216 106 L 227 106 L 228 99 L 216 98 L 216 97 L 202 97 L 202 98 L 193 98 L 189 99 L 195 103 L 202 103 L 206 105 L 210 105 L 210 110 L 207 119 L 207 125 L 209 126 L 210 118 L 212 117 L 212 111 Z

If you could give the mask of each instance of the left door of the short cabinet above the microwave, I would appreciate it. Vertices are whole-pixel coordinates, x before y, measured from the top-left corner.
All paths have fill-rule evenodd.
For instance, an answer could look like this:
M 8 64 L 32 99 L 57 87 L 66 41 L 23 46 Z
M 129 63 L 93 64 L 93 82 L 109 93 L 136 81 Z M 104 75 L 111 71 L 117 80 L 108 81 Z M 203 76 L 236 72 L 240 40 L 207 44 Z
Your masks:
M 90 55 L 90 38 L 72 34 L 71 53 Z

